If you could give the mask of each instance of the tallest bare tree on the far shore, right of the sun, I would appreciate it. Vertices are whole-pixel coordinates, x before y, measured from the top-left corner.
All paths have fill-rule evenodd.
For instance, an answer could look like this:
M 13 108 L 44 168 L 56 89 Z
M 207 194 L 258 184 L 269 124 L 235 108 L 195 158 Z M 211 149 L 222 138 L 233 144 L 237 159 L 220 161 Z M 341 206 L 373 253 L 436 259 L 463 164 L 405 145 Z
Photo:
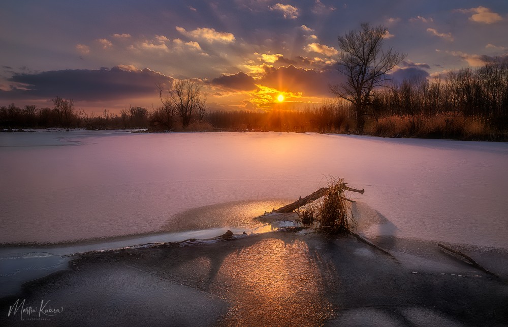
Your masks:
M 349 31 L 338 37 L 343 52 L 339 55 L 337 70 L 347 77 L 347 81 L 330 85 L 330 91 L 354 104 L 358 133 L 363 132 L 372 90 L 387 86 L 386 82 L 390 80 L 387 73 L 406 56 L 392 48 L 383 49 L 387 33 L 388 29 L 383 25 L 361 24 L 359 31 Z

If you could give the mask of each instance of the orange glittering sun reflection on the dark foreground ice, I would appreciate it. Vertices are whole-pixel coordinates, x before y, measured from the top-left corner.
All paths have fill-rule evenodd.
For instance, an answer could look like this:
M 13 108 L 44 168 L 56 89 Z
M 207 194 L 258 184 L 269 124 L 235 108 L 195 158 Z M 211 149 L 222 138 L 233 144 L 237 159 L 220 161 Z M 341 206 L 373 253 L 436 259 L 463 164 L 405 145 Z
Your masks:
M 266 239 L 230 253 L 217 273 L 235 304 L 225 324 L 320 325 L 333 318 L 322 264 L 320 254 L 299 240 Z

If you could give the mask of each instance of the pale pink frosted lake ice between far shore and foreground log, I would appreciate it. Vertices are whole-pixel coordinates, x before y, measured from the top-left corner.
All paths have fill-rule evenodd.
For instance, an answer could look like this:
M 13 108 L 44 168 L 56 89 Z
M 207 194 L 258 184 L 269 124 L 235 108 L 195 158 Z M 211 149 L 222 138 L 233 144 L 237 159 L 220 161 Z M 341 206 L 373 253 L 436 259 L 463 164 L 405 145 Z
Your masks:
M 316 190 L 325 175 L 383 221 L 368 236 L 508 248 L 508 144 L 295 133 L 0 134 L 0 243 L 216 227 Z

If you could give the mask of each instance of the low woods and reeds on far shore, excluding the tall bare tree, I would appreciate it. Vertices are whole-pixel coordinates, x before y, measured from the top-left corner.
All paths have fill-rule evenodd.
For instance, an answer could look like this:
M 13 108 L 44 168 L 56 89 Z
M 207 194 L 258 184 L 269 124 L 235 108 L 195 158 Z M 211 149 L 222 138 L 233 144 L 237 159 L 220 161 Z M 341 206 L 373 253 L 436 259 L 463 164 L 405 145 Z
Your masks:
M 199 91 L 199 90 L 198 90 Z M 161 93 L 160 93 L 161 95 Z M 206 103 L 183 113 L 161 96 L 155 109 L 107 109 L 90 115 L 74 102 L 55 97 L 53 107 L 14 103 L 0 107 L 0 129 L 147 129 L 148 131 L 259 130 L 355 133 L 355 112 L 345 100 L 325 101 L 300 110 L 214 111 Z M 495 58 L 477 69 L 445 76 L 404 80 L 374 90 L 363 134 L 387 137 L 508 140 L 508 61 Z

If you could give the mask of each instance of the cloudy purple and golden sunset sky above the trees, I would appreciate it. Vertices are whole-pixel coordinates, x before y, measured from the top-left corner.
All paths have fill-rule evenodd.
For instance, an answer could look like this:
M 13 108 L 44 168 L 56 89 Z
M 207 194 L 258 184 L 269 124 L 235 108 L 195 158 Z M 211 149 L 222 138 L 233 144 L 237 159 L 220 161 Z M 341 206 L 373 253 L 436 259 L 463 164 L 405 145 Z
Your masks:
M 157 84 L 196 78 L 211 110 L 312 106 L 344 80 L 337 37 L 361 23 L 407 54 L 395 81 L 508 55 L 505 0 L 3 0 L 0 105 L 151 109 Z

